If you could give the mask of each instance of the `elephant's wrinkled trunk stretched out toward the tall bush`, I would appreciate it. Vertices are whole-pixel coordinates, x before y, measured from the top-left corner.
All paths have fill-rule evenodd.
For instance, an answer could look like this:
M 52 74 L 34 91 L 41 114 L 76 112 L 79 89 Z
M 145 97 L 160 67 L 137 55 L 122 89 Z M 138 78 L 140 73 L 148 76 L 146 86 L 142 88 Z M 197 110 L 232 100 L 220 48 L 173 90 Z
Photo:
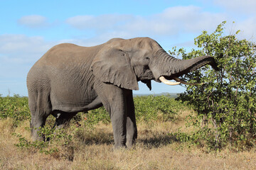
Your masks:
M 157 80 L 161 76 L 166 79 L 176 79 L 177 77 L 187 74 L 188 72 L 193 72 L 206 64 L 210 64 L 213 69 L 218 70 L 215 60 L 210 56 L 201 56 L 189 60 L 179 60 L 171 57 L 171 55 L 167 54 L 164 50 L 157 51 L 155 56 L 157 57 L 157 60 L 151 64 L 151 67 L 154 77 Z

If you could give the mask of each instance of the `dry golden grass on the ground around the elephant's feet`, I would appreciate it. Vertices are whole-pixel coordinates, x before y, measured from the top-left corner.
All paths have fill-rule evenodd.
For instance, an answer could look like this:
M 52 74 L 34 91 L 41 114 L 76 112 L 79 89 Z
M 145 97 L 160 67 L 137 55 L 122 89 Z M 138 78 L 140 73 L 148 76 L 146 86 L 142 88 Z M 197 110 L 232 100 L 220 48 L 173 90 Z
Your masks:
M 255 149 L 250 152 L 207 153 L 202 148 L 176 142 L 169 132 L 184 127 L 182 113 L 176 123 L 141 123 L 133 149 L 113 151 L 111 125 L 99 124 L 95 129 L 80 130 L 70 147 L 60 148 L 61 155 L 41 154 L 20 149 L 18 137 L 29 138 L 26 121 L 18 128 L 12 120 L 0 120 L 0 169 L 255 169 Z M 186 129 L 186 128 L 184 128 Z M 72 157 L 73 161 L 68 158 Z

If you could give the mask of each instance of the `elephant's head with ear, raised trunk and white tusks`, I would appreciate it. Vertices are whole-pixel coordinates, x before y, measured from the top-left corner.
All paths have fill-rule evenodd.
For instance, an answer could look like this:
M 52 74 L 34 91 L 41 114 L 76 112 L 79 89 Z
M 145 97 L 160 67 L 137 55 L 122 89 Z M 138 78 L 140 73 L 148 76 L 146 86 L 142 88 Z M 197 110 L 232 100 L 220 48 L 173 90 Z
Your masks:
M 213 57 L 178 60 L 151 38 L 115 38 L 101 48 L 93 59 L 91 68 L 95 77 L 101 81 L 124 89 L 138 90 L 137 81 L 142 81 L 149 89 L 151 80 L 169 85 L 187 84 L 178 77 L 206 64 L 218 70 Z M 178 82 L 168 81 L 171 79 Z

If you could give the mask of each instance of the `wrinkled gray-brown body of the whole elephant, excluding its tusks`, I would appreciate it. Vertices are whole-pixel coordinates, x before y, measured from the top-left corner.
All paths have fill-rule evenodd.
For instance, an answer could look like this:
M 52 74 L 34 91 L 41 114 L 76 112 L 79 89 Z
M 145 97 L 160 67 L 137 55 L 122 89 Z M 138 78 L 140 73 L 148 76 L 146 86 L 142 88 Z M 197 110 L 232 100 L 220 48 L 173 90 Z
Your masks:
M 56 45 L 28 72 L 33 140 L 41 139 L 37 131 L 50 114 L 61 128 L 76 113 L 103 105 L 110 113 L 114 147 L 131 147 L 137 138 L 132 90 L 139 89 L 138 81 L 151 89 L 151 80 L 179 77 L 206 64 L 217 69 L 212 57 L 178 60 L 151 38 L 114 38 L 94 47 Z

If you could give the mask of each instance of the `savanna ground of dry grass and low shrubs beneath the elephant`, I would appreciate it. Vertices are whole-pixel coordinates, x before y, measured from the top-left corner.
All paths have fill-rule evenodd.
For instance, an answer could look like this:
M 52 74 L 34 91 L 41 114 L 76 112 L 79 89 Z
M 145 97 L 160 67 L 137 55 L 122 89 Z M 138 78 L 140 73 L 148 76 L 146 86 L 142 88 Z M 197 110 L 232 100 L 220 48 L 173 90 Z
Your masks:
M 256 149 L 220 151 L 176 139 L 174 132 L 190 132 L 187 106 L 161 98 L 161 107 L 152 110 L 156 98 L 135 98 L 138 139 L 132 149 L 113 150 L 112 126 L 102 108 L 80 113 L 68 128 L 50 134 L 51 142 L 30 142 L 27 99 L 14 103 L 1 98 L 0 169 L 255 169 Z M 11 98 L 12 99 L 12 98 Z M 17 98 L 16 98 L 17 99 Z M 157 99 L 157 100 L 158 100 Z M 166 101 L 164 103 L 162 101 Z M 171 103 L 168 103 L 171 102 Z M 7 106 L 9 104 L 9 107 Z M 145 106 L 141 106 L 144 104 Z M 159 103 L 157 103 L 159 104 Z M 151 107 L 147 106 L 151 105 Z M 177 107 L 167 111 L 168 107 Z M 142 113 L 142 110 L 148 112 Z M 9 110 L 8 110 L 9 109 Z M 102 117 L 94 117 L 96 112 Z M 24 115 L 16 118 L 11 113 Z M 48 118 L 53 124 L 53 117 Z M 44 129 L 47 133 L 47 129 Z

